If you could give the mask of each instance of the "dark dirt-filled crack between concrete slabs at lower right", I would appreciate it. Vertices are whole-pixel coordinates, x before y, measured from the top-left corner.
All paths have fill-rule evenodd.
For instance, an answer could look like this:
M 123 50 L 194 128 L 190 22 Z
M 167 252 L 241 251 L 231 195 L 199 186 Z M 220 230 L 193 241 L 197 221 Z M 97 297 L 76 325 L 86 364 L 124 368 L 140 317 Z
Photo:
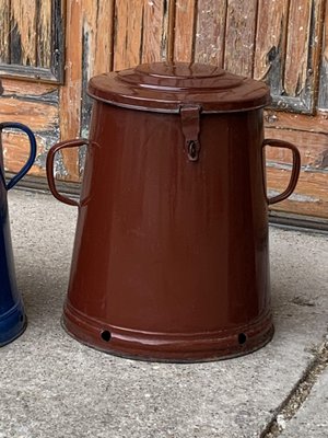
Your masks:
M 319 376 L 328 367 L 328 335 L 326 341 L 314 348 L 314 358 L 304 371 L 304 374 L 295 384 L 288 397 L 281 403 L 273 418 L 267 425 L 259 438 L 277 438 L 285 429 L 288 422 L 294 417 L 296 412 L 308 397 L 313 385 Z

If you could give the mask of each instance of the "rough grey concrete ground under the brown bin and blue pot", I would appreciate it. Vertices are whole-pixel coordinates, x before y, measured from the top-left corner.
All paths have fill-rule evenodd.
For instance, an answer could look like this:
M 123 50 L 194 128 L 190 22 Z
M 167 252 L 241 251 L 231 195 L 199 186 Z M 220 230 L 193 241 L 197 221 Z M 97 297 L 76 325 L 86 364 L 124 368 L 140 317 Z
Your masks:
M 0 438 L 328 437 L 328 235 L 270 229 L 276 335 L 248 356 L 151 364 L 60 326 L 77 209 L 9 194 L 28 326 L 0 349 Z

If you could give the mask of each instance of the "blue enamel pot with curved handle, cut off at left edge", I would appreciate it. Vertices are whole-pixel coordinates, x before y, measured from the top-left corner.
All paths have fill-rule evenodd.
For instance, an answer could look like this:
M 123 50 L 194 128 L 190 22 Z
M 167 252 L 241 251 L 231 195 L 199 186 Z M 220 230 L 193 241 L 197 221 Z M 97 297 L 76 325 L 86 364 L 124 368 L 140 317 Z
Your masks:
M 23 130 L 31 148 L 27 162 L 9 182 L 4 177 L 2 154 L 2 130 L 5 128 Z M 36 141 L 31 129 L 20 123 L 0 123 L 0 346 L 20 336 L 26 327 L 24 306 L 15 279 L 7 193 L 28 172 L 35 155 Z

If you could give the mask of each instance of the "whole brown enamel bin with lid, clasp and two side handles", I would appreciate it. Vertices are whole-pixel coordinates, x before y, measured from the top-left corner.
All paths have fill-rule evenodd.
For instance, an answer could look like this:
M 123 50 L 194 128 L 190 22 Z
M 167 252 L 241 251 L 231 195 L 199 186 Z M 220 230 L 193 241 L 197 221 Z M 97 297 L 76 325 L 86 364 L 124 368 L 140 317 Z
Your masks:
M 79 207 L 63 325 L 82 343 L 141 359 L 253 351 L 273 334 L 268 204 L 286 198 L 297 149 L 263 140 L 261 82 L 216 67 L 151 64 L 92 78 L 90 138 L 48 154 L 52 194 Z M 54 157 L 87 145 L 80 201 L 60 195 Z M 268 199 L 265 146 L 293 154 Z

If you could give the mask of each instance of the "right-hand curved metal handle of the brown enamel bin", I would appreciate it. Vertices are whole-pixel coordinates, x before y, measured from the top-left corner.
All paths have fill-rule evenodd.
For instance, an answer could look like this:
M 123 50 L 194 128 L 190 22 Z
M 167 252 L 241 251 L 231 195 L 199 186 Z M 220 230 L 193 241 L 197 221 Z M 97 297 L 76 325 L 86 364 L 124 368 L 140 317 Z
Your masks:
M 262 142 L 262 148 L 265 146 L 272 146 L 273 148 L 284 148 L 284 149 L 290 149 L 293 153 L 293 169 L 292 169 L 292 174 L 290 178 L 290 183 L 284 192 L 282 192 L 280 195 L 273 196 L 272 198 L 268 198 L 268 204 L 277 204 L 280 203 L 283 199 L 286 199 L 295 189 L 298 176 L 300 176 L 300 170 L 301 170 L 301 155 L 298 152 L 298 149 L 288 141 L 283 140 L 276 140 L 272 138 L 267 138 Z

